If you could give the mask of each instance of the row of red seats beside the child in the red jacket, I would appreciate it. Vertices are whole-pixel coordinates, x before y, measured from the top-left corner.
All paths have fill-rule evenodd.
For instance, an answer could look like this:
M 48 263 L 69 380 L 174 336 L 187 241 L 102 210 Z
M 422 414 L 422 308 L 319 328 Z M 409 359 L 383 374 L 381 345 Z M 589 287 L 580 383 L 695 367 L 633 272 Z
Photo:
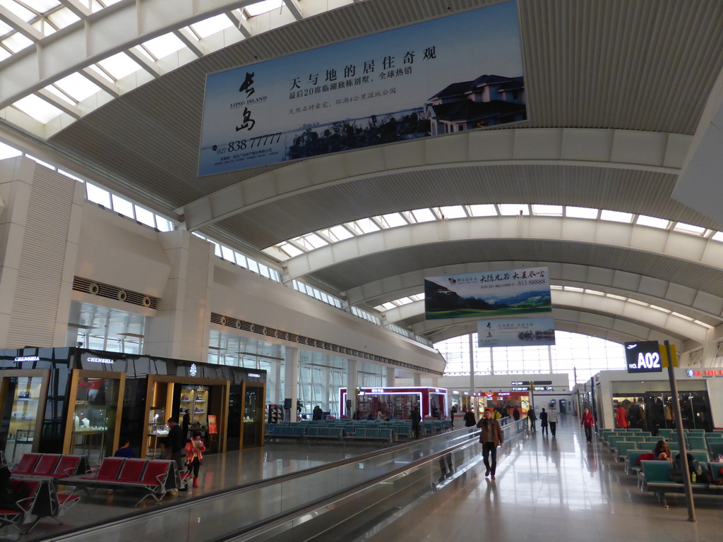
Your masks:
M 138 506 L 147 497 L 156 502 L 163 499 L 171 489 L 181 487 L 191 473 L 179 473 L 175 461 L 157 459 L 126 459 L 105 457 L 100 468 L 93 474 L 64 478 L 61 483 L 90 489 L 127 490 L 142 493 Z

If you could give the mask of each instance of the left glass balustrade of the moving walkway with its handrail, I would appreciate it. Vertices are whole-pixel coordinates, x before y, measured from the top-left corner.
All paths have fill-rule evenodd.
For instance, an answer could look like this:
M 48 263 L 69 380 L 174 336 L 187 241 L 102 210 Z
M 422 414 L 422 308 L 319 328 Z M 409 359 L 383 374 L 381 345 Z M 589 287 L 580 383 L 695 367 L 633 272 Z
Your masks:
M 135 512 L 111 522 L 56 534 L 48 540 L 82 542 L 97 541 L 99 537 L 121 540 L 132 538 L 141 528 L 147 537 L 154 534 L 168 536 L 169 525 L 178 528 L 179 523 L 186 522 L 189 535 L 192 535 L 189 539 L 194 542 L 216 541 L 354 489 L 397 470 L 399 465 L 409 465 L 457 444 L 474 442 L 477 434 L 479 431 L 475 428 L 449 431 L 296 473 L 214 491 L 183 503 Z M 244 499 L 244 496 L 247 498 Z M 231 519 L 237 524 L 229 530 Z

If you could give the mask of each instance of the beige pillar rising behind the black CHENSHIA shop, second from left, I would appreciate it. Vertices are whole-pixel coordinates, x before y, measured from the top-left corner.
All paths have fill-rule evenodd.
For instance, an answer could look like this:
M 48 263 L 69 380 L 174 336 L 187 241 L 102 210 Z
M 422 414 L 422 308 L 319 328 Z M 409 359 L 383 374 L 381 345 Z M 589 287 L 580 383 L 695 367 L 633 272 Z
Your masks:
M 143 353 L 206 361 L 210 337 L 213 245 L 188 231 L 160 233 L 171 262 L 155 318 L 146 320 Z

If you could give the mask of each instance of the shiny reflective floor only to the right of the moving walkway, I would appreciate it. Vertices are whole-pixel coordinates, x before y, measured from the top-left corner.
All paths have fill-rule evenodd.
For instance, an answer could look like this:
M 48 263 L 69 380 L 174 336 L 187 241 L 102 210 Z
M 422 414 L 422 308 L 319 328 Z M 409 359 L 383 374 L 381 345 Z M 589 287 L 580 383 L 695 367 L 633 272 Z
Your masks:
M 505 448 L 495 481 L 478 463 L 428 499 L 408 507 L 374 542 L 707 542 L 723 539 L 723 494 L 685 496 L 669 508 L 643 494 L 623 463 L 585 442 L 577 418 L 561 416 L 557 436 L 526 433 Z

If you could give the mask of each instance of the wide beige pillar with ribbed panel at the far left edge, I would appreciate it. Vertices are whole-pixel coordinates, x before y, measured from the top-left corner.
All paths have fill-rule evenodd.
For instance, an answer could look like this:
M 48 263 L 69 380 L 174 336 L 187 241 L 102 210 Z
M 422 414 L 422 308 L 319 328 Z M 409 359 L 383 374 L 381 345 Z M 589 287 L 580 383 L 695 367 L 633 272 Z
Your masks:
M 4 348 L 67 343 L 84 200 L 82 184 L 30 158 L 0 163 Z

